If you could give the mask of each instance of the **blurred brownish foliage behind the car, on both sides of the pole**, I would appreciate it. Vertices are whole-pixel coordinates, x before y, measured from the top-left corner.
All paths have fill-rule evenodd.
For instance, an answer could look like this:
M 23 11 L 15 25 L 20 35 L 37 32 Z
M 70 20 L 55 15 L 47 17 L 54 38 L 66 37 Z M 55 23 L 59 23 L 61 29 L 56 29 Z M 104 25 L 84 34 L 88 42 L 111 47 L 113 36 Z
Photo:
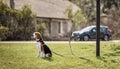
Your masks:
M 89 25 L 96 23 L 96 0 L 69 1 L 81 8 Z M 120 0 L 101 0 L 100 4 L 101 15 L 105 14 L 105 18 L 108 19 L 107 21 L 101 20 L 101 25 L 106 25 L 112 29 L 112 39 L 120 39 Z

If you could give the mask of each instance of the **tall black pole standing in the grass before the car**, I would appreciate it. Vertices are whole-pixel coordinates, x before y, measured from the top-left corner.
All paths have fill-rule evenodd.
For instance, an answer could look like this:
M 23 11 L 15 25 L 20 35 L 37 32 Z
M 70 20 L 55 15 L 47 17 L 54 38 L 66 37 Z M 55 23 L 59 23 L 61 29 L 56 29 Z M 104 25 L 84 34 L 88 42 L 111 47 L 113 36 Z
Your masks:
M 97 40 L 96 40 L 96 56 L 100 56 L 100 0 L 96 0 L 96 28 L 97 28 Z

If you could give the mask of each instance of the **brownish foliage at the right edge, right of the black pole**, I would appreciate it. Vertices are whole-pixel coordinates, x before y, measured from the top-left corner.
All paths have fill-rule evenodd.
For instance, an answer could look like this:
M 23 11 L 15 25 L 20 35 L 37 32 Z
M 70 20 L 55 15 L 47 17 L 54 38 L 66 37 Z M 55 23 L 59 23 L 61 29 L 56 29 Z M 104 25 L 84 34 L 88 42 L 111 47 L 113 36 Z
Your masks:
M 103 13 L 107 15 L 108 25 L 112 29 L 112 38 L 120 39 L 120 0 L 105 0 L 103 3 Z

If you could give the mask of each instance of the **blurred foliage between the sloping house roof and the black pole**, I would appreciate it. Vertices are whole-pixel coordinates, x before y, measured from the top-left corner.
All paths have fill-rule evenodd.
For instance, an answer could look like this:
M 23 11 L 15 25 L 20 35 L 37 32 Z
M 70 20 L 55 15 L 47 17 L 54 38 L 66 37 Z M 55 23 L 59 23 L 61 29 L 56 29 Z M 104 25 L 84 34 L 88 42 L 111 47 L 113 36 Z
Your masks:
M 94 21 L 96 17 L 95 0 L 69 0 L 81 8 L 88 22 Z

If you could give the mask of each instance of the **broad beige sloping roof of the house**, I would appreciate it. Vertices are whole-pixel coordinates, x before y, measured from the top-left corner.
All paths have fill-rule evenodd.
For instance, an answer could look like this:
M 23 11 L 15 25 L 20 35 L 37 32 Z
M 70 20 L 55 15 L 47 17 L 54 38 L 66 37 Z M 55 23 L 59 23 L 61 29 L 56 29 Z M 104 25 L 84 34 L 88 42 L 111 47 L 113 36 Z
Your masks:
M 73 11 L 79 8 L 68 0 L 14 0 L 15 9 L 22 8 L 23 5 L 31 5 L 32 11 L 37 17 L 68 19 L 64 14 L 68 6 L 72 6 Z

